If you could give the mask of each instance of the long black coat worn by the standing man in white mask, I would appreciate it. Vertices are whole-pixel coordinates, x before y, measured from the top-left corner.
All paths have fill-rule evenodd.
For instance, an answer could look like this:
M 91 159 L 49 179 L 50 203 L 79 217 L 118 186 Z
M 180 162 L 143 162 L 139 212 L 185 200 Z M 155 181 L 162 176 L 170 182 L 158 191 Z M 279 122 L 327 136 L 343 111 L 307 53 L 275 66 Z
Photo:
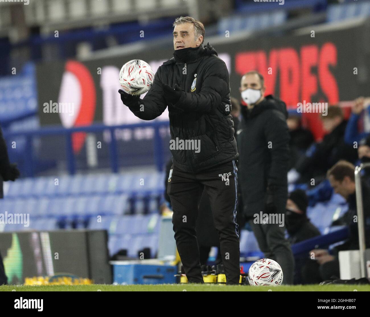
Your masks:
M 241 113 L 237 131 L 238 176 L 244 215 L 268 212 L 268 196 L 273 199 L 275 212 L 284 213 L 289 165 L 285 103 L 268 95 L 251 111 L 242 105 Z

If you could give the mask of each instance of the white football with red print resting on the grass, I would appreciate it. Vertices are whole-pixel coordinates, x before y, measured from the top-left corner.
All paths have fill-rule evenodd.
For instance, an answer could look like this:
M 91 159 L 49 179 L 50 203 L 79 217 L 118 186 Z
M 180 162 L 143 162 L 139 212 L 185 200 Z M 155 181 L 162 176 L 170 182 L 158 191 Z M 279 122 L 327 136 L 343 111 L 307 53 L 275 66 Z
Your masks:
M 252 286 L 277 286 L 283 282 L 283 270 L 274 260 L 260 259 L 249 268 L 248 281 Z

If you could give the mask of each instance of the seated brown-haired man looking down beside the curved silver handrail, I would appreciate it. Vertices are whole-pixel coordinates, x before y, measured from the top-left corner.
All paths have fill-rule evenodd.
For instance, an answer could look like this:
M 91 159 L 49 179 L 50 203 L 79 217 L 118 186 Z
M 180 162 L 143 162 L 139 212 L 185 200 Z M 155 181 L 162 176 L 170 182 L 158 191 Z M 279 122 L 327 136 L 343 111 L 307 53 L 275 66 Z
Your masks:
M 327 172 L 330 184 L 334 192 L 339 193 L 347 200 L 348 211 L 332 225 L 346 225 L 349 229 L 349 238 L 341 245 L 333 248 L 330 254 L 328 250 L 314 249 L 310 251 L 310 256 L 314 255 L 314 260 L 310 260 L 302 268 L 303 284 L 320 283 L 329 280 L 332 276 L 340 277 L 339 273 L 339 251 L 358 250 L 359 234 L 357 227 L 357 206 L 356 206 L 356 186 L 354 182 L 354 165 L 350 162 L 339 161 Z M 362 185 L 362 198 L 364 218 L 370 217 L 370 188 L 365 182 Z M 366 222 L 365 222 L 366 223 Z M 370 228 L 365 226 L 366 245 L 370 245 Z

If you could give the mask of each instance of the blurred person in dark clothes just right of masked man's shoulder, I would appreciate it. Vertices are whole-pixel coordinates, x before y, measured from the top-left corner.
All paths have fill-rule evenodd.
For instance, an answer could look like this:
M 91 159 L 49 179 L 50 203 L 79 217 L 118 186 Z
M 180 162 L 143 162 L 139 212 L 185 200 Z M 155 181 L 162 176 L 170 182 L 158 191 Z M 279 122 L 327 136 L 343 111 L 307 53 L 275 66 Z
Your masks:
M 286 119 L 286 124 L 288 125 L 290 135 L 289 169 L 291 169 L 296 165 L 300 156 L 305 154 L 309 146 L 312 144 L 313 135 L 309 130 L 302 128 L 301 119 L 298 115 L 289 115 L 289 117 Z

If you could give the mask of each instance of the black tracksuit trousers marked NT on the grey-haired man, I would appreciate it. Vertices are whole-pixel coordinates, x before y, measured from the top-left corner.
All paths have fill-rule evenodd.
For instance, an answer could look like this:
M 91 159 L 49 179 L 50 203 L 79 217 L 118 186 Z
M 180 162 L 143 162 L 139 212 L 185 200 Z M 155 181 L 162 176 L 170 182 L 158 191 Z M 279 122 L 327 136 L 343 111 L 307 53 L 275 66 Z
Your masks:
M 174 165 L 167 193 L 173 210 L 175 240 L 189 283 L 203 283 L 195 223 L 203 189 L 209 196 L 213 221 L 220 237 L 226 284 L 238 284 L 239 230 L 236 224 L 237 172 L 235 160 L 199 173 L 180 171 Z

